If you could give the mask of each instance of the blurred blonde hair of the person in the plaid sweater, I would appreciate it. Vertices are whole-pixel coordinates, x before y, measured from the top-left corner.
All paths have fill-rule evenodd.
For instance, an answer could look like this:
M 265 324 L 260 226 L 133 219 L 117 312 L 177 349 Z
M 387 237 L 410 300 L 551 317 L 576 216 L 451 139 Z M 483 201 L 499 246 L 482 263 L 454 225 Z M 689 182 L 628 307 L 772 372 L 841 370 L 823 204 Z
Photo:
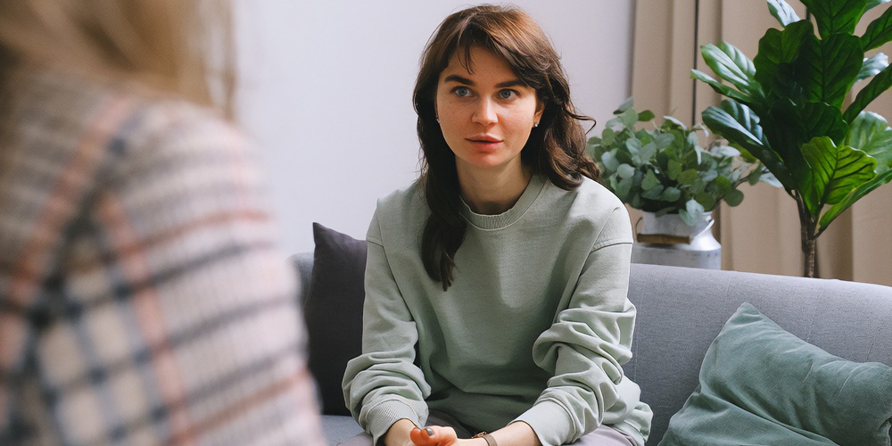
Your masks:
M 227 0 L 2 0 L 0 67 L 136 82 L 232 115 Z

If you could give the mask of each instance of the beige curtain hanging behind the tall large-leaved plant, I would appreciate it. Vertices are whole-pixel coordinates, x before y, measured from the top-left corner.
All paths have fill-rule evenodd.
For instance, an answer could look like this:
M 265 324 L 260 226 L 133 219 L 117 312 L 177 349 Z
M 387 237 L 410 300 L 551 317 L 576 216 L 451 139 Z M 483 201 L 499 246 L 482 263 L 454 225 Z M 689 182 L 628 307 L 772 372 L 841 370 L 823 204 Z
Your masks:
M 800 17 L 805 7 L 789 1 Z M 868 12 L 866 26 L 888 7 Z M 750 59 L 769 27 L 780 27 L 763 0 L 643 0 L 636 2 L 632 97 L 636 108 L 657 116 L 671 114 L 686 123 L 700 121 L 700 112 L 719 96 L 694 83 L 690 69 L 711 73 L 698 46 L 721 40 L 737 46 Z M 863 32 L 861 29 L 860 32 Z M 880 48 L 892 56 L 892 45 Z M 868 107 L 892 120 L 892 91 Z M 742 186 L 738 207 L 717 212 L 715 235 L 722 243 L 722 267 L 739 271 L 800 276 L 803 271 L 796 203 L 782 189 Z M 637 213 L 633 213 L 633 219 Z M 892 184 L 881 186 L 836 219 L 821 235 L 818 265 L 821 277 L 892 285 Z

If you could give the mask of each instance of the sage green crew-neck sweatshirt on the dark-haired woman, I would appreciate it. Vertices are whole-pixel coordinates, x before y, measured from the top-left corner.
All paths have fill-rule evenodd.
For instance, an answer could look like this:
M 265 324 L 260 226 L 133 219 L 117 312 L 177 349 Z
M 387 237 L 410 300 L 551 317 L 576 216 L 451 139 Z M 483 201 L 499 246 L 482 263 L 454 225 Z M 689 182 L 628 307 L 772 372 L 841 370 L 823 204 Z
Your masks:
M 478 431 L 524 421 L 547 445 L 602 423 L 643 445 L 652 414 L 622 368 L 635 325 L 623 203 L 588 178 L 565 191 L 533 177 L 505 213 L 463 205 L 467 237 L 444 292 L 421 260 L 423 192 L 381 199 L 368 229 L 362 354 L 343 392 L 375 444 L 430 409 Z

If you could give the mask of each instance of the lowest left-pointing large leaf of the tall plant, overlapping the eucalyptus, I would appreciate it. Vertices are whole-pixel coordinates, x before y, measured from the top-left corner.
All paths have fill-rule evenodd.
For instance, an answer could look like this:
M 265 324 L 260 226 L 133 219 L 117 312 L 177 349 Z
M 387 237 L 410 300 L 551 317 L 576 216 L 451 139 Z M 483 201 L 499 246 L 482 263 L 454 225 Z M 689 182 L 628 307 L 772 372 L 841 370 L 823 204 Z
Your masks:
M 794 186 L 786 166 L 764 139 L 759 117 L 746 105 L 726 99 L 722 101 L 721 108 L 712 105 L 707 107 L 702 118 L 706 127 L 714 133 L 762 161 L 785 188 L 789 190 Z

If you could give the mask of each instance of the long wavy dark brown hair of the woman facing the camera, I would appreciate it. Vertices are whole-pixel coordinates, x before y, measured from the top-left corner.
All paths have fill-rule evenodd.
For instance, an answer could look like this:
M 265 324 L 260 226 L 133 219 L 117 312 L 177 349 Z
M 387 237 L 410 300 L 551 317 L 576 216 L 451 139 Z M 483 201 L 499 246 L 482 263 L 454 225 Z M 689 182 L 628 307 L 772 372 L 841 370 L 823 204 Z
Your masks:
M 533 18 L 516 7 L 495 5 L 451 14 L 425 46 L 413 95 L 424 154 L 419 184 L 431 210 L 422 235 L 422 260 L 427 274 L 442 282 L 444 291 L 452 283 L 454 257 L 465 239 L 467 222 L 460 212 L 455 155 L 437 123 L 434 97 L 440 74 L 453 55 L 471 69 L 473 46 L 504 59 L 545 105 L 539 126 L 521 152 L 524 165 L 566 190 L 582 184 L 582 176 L 599 178 L 598 167 L 585 153 L 580 124 L 591 118 L 576 112 L 560 57 Z

